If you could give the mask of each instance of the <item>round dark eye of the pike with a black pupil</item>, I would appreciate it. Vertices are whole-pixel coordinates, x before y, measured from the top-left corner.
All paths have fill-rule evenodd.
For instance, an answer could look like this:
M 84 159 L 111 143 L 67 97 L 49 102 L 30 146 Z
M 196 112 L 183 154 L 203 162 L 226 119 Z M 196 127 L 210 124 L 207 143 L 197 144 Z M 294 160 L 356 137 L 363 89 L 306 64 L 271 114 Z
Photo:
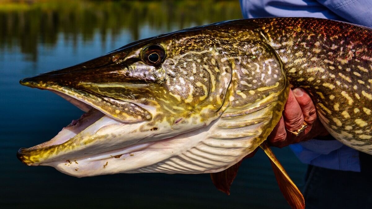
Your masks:
M 141 59 L 148 65 L 158 65 L 163 62 L 165 51 L 159 45 L 150 45 L 142 49 Z

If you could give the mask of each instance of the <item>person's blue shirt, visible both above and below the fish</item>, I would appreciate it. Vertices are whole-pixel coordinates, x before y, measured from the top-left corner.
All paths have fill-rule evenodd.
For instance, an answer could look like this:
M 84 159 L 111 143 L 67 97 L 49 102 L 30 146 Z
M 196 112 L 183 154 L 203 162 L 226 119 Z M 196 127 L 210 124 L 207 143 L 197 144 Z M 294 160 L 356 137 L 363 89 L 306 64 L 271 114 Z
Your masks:
M 240 0 L 244 18 L 320 17 L 372 27 L 371 0 Z M 359 152 L 336 140 L 311 139 L 290 145 L 303 163 L 360 171 Z

